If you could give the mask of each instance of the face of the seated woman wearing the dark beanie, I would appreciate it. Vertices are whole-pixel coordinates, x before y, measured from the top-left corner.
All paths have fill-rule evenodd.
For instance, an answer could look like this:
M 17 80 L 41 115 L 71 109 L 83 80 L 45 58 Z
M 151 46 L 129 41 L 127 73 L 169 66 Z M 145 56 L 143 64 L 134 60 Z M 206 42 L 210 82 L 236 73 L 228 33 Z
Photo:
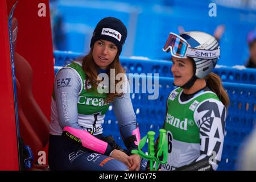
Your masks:
M 117 55 L 118 48 L 108 40 L 97 40 L 94 43 L 92 56 L 94 62 L 101 69 L 107 69 Z

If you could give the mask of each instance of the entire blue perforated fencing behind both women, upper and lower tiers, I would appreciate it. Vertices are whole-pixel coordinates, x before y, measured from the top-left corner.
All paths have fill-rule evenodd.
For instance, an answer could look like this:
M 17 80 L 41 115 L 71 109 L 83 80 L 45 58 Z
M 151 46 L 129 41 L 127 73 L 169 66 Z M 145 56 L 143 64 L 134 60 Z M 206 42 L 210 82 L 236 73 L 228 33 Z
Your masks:
M 67 64 L 67 57 L 69 61 L 71 61 L 80 54 L 54 52 L 54 55 L 55 63 L 61 67 Z M 123 66 L 128 69 L 128 73 L 160 73 L 159 75 L 164 75 L 163 69 L 170 72 L 171 67 L 168 61 L 123 58 L 121 62 Z M 59 69 L 59 67 L 55 68 L 56 71 Z M 218 170 L 233 170 L 236 165 L 238 148 L 242 146 L 243 140 L 250 133 L 251 129 L 253 129 L 256 120 L 256 72 L 253 69 L 239 70 L 227 67 L 216 68 L 214 72 L 220 75 L 223 81 L 228 81 L 224 82 L 223 85 L 228 91 L 230 98 L 230 106 L 226 118 L 224 148 Z M 164 76 L 171 75 L 168 73 Z M 130 77 L 130 81 L 131 78 L 133 77 Z M 144 76 L 141 76 L 141 80 L 142 78 L 144 78 Z M 150 77 L 147 76 L 146 79 L 148 78 Z M 171 90 L 174 89 L 172 82 L 173 78 L 171 77 L 159 77 L 159 97 L 157 100 L 147 99 L 148 96 L 152 96 L 152 94 L 131 93 L 131 101 L 137 116 L 137 121 L 140 125 L 141 137 L 144 137 L 147 131 L 150 130 L 156 132 L 155 138 L 158 136 L 158 130 L 163 126 L 167 97 Z M 250 84 L 241 84 L 241 82 Z M 140 81 L 137 84 L 142 83 Z M 133 92 L 134 91 L 133 89 Z M 117 143 L 125 147 L 119 134 L 118 122 L 115 118 L 112 106 L 109 107 L 109 111 L 106 113 L 104 134 L 113 135 Z

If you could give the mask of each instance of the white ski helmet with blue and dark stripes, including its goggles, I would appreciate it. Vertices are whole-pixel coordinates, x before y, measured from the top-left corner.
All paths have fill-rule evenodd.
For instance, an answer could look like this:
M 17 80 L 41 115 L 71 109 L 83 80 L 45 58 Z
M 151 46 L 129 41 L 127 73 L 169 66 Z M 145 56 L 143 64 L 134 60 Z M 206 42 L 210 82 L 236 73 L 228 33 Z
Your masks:
M 200 31 L 183 32 L 180 35 L 170 32 L 163 51 L 171 51 L 174 57 L 191 58 L 194 75 L 188 81 L 187 88 L 191 87 L 197 78 L 209 75 L 220 57 L 217 39 Z

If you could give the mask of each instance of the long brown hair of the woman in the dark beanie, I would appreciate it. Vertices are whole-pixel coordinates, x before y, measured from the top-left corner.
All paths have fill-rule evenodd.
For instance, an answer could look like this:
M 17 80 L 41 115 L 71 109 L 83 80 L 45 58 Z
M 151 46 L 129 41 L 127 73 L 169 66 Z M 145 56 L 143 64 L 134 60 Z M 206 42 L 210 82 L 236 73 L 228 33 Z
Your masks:
M 90 52 L 88 55 L 82 57 L 82 69 L 86 73 L 86 77 L 88 78 L 86 82 L 90 82 L 90 84 L 93 86 L 94 89 L 97 89 L 98 84 L 101 82 L 101 80 L 98 79 L 98 73 L 97 69 L 100 69 L 98 65 L 94 62 L 93 56 L 92 56 L 92 50 L 93 46 L 90 49 Z M 121 97 L 123 96 L 123 93 L 117 93 L 116 90 L 114 90 L 114 93 L 110 93 L 110 88 L 111 86 L 115 86 L 118 84 L 118 80 L 115 80 L 114 82 L 110 81 L 110 69 L 115 69 L 115 76 L 117 76 L 118 73 L 123 73 L 125 74 L 125 70 L 123 69 L 122 65 L 120 64 L 119 60 L 119 53 L 117 52 L 117 55 L 115 55 L 115 58 L 111 64 L 108 66 L 108 76 L 109 76 L 109 93 L 108 97 L 106 98 L 106 102 L 110 103 L 113 102 L 115 97 Z M 121 82 L 124 80 L 121 80 Z M 85 83 L 85 85 L 87 85 Z

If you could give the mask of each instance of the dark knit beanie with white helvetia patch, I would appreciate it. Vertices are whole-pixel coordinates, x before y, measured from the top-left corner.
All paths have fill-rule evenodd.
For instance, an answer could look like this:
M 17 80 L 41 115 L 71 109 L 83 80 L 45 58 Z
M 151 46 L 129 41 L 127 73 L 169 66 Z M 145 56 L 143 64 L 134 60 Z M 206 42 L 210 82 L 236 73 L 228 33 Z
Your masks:
M 108 40 L 117 46 L 120 55 L 126 36 L 127 29 L 121 20 L 113 17 L 106 17 L 100 20 L 95 27 L 92 39 L 90 40 L 90 47 L 92 48 L 97 40 Z

